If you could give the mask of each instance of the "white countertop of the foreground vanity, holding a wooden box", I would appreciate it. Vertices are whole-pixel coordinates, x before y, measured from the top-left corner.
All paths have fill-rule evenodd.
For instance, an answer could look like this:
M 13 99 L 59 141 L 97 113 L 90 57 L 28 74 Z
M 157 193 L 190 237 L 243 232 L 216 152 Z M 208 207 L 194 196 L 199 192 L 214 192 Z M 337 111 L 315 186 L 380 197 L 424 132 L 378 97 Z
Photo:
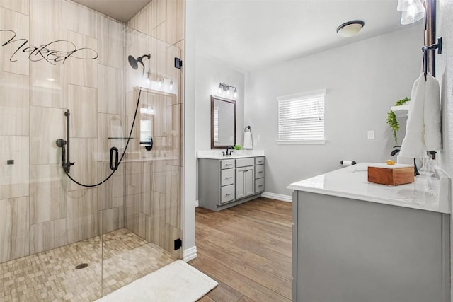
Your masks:
M 450 213 L 450 180 L 442 170 L 437 170 L 439 178 L 433 178 L 433 173 L 423 174 L 423 171 L 420 171 L 421 174 L 415 176 L 413 183 L 388 186 L 368 182 L 368 165 L 377 164 L 357 163 L 357 165 L 294 182 L 288 186 L 288 189 Z

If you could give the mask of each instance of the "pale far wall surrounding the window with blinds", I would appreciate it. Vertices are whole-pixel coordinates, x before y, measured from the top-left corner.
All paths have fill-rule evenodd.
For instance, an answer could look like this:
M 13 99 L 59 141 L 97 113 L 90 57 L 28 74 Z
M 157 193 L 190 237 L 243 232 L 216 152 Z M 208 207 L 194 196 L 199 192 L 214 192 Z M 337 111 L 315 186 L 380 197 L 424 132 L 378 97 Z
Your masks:
M 245 124 L 265 149 L 265 191 L 339 168 L 340 160 L 382 162 L 394 146 L 385 119 L 420 74 L 423 24 L 252 72 Z M 277 145 L 278 96 L 326 88 L 325 145 Z M 406 118 L 400 124 L 406 124 Z M 374 130 L 374 139 L 367 131 Z M 399 137 L 403 137 L 400 134 Z M 401 143 L 401 139 L 399 140 Z

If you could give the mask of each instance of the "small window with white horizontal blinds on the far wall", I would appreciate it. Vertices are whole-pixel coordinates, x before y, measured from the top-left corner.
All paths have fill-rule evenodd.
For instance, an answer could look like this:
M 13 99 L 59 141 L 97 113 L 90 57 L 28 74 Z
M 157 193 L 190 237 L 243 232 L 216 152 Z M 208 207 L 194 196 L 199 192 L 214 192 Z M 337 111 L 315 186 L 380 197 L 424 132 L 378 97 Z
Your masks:
M 278 144 L 325 144 L 324 95 L 311 91 L 278 100 Z

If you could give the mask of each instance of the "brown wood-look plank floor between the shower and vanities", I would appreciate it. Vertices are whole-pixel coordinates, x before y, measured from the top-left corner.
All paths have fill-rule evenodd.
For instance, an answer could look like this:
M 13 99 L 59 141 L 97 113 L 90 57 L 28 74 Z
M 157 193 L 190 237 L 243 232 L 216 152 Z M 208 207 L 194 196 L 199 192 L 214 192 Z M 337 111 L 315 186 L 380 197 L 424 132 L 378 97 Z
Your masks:
M 291 204 L 259 198 L 222 211 L 196 210 L 197 258 L 219 282 L 199 301 L 291 301 Z

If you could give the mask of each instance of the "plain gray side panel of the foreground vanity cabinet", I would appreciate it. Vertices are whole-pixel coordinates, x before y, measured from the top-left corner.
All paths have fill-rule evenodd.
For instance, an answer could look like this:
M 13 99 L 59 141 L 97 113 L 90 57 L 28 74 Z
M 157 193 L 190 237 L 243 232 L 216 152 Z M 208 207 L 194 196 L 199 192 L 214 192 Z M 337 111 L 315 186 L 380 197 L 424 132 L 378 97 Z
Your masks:
M 447 302 L 449 214 L 294 191 L 292 301 Z

